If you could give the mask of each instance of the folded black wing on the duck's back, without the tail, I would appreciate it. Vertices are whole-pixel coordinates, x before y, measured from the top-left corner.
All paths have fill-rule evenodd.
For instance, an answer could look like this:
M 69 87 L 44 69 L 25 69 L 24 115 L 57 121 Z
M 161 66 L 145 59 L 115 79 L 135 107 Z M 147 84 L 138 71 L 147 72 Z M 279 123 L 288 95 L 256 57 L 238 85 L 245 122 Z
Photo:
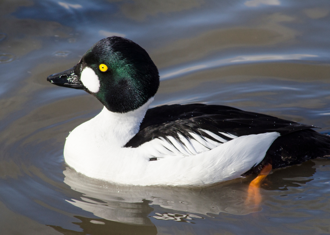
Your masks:
M 124 147 L 136 148 L 155 138 L 167 139 L 167 136 L 181 142 L 180 135 L 191 139 L 190 133 L 221 142 L 203 130 L 229 141 L 233 138 L 226 133 L 242 136 L 279 132 L 284 135 L 310 128 L 315 127 L 223 105 L 163 105 L 148 109 L 140 131 Z

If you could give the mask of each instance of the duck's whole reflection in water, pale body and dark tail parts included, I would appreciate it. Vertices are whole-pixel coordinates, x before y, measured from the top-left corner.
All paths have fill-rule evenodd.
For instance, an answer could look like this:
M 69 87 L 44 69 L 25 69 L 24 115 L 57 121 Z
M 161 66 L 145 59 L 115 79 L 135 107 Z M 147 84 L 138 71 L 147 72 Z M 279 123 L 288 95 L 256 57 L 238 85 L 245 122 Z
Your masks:
M 301 187 L 297 182 L 304 184 L 313 180 L 314 165 L 314 162 L 308 161 L 302 165 L 271 172 L 265 184 L 262 185 L 261 194 L 265 195 L 265 200 L 267 200 L 269 196 L 267 194 L 273 197 L 283 190 L 288 190 L 287 187 Z M 132 227 L 132 234 L 133 230 L 139 234 L 135 227 L 138 229 L 144 227 L 145 230 L 142 229 L 141 234 L 156 234 L 153 220 L 199 223 L 219 213 L 247 215 L 262 210 L 260 206 L 254 206 L 254 197 L 248 198 L 247 188 L 253 176 L 208 187 L 189 188 L 115 185 L 89 178 L 69 167 L 63 173 L 64 183 L 83 194 L 81 198 L 72 198 L 67 202 L 102 218 L 86 219 L 76 216 L 82 220 L 82 223 L 77 224 L 86 227 L 83 227 L 84 231 L 98 224 L 110 224 L 118 230 L 128 231 L 126 234 L 130 234 L 130 229 L 127 230 L 126 226 Z M 283 179 L 283 175 L 289 175 L 292 180 Z M 296 177 L 305 178 L 297 181 Z M 64 229 L 60 227 L 55 229 L 65 234 Z M 104 227 L 102 229 L 104 231 Z

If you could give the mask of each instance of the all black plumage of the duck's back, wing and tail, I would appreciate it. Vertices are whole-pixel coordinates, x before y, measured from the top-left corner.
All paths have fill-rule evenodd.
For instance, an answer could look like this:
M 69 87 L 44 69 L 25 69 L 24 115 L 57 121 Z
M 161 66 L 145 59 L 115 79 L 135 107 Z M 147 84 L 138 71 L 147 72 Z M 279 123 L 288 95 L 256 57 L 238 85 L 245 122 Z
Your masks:
M 219 132 L 236 136 L 279 132 L 281 136 L 273 142 L 264 160 L 244 174 L 248 175 L 260 172 L 267 162 L 278 168 L 330 155 L 330 137 L 311 128 L 316 127 L 223 105 L 163 105 L 148 109 L 140 131 L 124 147 L 135 148 L 154 138 L 167 139 L 166 136 L 181 142 L 179 134 L 192 138 L 189 132 L 217 141 L 200 129 L 226 140 L 231 138 Z

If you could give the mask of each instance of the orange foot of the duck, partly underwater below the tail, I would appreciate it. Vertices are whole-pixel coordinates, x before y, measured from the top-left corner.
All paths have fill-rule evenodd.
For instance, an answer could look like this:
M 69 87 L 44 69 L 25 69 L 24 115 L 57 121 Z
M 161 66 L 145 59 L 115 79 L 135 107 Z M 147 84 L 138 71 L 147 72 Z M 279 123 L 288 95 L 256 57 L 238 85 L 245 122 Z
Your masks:
M 258 176 L 254 180 L 252 180 L 250 185 L 248 186 L 248 198 L 253 198 L 255 206 L 258 206 L 261 203 L 260 186 L 271 170 L 272 164 L 267 163 L 261 169 Z

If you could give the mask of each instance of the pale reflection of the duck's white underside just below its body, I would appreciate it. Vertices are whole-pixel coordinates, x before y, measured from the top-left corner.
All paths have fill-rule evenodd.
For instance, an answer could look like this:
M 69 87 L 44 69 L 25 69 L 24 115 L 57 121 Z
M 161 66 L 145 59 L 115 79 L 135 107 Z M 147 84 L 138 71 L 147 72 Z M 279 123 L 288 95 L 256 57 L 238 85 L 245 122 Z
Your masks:
M 70 168 L 63 173 L 64 183 L 84 194 L 81 200 L 73 198 L 68 202 L 106 220 L 148 225 L 150 220 L 147 216 L 152 211 L 149 205 L 205 216 L 220 212 L 247 215 L 261 210 L 259 207 L 250 207 L 246 200 L 246 187 L 242 187 L 241 180 L 207 188 L 141 187 L 98 181 Z M 146 200 L 149 204 L 143 203 Z M 192 217 L 186 213 L 184 215 Z

